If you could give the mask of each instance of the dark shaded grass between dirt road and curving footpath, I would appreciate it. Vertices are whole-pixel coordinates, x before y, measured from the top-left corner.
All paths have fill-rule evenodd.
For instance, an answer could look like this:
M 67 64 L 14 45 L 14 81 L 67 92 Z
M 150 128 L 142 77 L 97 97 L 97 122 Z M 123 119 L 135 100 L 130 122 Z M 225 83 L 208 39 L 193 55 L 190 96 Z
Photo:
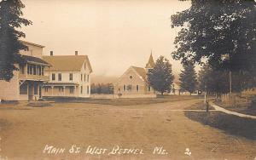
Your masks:
M 228 134 L 256 140 L 256 120 L 236 117 L 220 111 L 195 112 L 184 111 L 186 117 L 193 121 L 224 130 Z

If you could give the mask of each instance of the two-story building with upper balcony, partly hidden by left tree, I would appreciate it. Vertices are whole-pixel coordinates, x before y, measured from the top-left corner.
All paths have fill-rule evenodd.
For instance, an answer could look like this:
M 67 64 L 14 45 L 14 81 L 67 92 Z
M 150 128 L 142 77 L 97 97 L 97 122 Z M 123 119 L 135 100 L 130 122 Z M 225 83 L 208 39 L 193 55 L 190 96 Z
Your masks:
M 49 64 L 42 60 L 44 46 L 20 41 L 27 50 L 20 50 L 22 64 L 15 64 L 19 69 L 14 77 L 5 82 L 0 80 L 0 100 L 35 100 L 42 96 L 42 86 L 49 80 L 44 71 Z

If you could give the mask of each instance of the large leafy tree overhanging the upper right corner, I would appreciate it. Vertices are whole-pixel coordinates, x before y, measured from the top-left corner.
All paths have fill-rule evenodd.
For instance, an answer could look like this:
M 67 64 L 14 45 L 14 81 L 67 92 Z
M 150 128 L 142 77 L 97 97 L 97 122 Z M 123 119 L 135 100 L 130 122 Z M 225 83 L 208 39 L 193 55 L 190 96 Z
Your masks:
M 256 68 L 256 3 L 254 0 L 192 0 L 172 15 L 172 27 L 183 27 L 175 39 L 175 60 L 207 63 L 227 71 Z M 229 60 L 223 60 L 224 55 Z

